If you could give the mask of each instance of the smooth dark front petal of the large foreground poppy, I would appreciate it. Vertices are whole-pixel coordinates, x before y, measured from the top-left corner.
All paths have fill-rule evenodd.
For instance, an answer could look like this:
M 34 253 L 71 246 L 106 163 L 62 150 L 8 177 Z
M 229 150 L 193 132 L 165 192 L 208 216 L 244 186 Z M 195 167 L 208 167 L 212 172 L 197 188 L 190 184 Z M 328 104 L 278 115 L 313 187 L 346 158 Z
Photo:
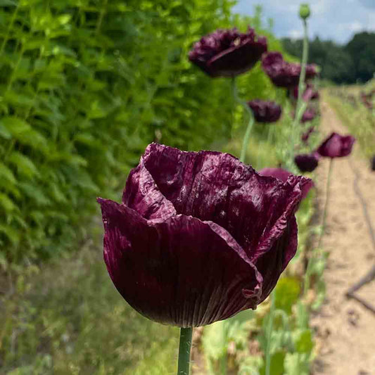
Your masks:
M 145 220 L 125 205 L 98 202 L 110 277 L 144 316 L 203 326 L 258 304 L 262 277 L 225 229 L 184 215 Z

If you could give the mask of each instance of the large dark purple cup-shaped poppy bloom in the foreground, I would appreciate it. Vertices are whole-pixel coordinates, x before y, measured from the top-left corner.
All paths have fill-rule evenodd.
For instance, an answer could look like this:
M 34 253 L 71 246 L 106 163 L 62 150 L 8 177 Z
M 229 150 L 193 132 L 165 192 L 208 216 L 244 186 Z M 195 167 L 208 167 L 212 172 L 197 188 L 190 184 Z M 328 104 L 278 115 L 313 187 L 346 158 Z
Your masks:
M 113 284 L 156 322 L 203 326 L 255 308 L 297 246 L 301 185 L 227 153 L 151 144 L 122 203 L 98 198 Z

